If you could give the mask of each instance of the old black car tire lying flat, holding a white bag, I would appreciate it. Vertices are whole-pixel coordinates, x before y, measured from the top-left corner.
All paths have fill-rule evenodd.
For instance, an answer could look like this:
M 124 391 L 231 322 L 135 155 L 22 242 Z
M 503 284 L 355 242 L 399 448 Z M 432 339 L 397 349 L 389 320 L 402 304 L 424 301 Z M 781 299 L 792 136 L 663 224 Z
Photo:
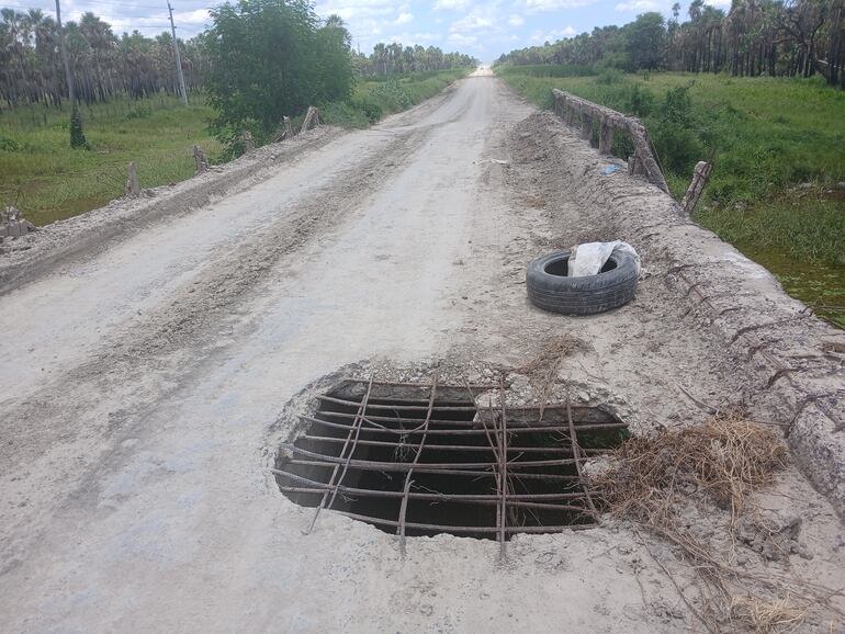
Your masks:
M 567 278 L 570 251 L 554 251 L 528 265 L 526 286 L 534 306 L 564 315 L 595 315 L 618 308 L 636 292 L 636 263 L 615 251 L 597 275 Z

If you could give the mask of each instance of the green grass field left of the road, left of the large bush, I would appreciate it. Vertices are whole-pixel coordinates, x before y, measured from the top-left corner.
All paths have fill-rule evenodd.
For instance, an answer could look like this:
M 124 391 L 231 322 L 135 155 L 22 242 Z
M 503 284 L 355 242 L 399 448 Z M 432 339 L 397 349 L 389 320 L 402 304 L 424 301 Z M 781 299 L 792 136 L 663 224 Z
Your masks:
M 69 147 L 69 113 L 38 106 L 0 113 L 0 204 L 13 204 L 36 225 L 69 218 L 123 194 L 135 161 L 142 188 L 190 178 L 192 148 L 221 146 L 206 131 L 212 110 L 201 97 L 182 107 L 154 97 L 82 106 L 90 149 Z

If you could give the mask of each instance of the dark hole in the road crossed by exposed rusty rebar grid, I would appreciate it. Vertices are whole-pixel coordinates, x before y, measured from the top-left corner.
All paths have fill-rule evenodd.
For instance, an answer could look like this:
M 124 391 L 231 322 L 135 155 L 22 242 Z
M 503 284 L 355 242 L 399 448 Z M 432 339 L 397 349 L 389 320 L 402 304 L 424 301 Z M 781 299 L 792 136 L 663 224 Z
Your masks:
M 485 392 L 495 405 L 476 409 Z M 621 441 L 626 426 L 597 407 L 506 408 L 498 394 L 345 382 L 302 417 L 307 432 L 282 445 L 279 488 L 401 535 L 506 541 L 595 525 L 582 465 Z

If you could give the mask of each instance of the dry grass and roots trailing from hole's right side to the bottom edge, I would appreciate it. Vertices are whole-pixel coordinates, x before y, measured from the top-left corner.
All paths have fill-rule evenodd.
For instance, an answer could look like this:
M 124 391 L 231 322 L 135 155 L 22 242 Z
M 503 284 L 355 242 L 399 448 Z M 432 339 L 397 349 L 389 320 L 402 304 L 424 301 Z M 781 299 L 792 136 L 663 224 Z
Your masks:
M 773 479 L 787 455 L 775 430 L 739 417 L 717 417 L 700 427 L 629 439 L 590 479 L 605 510 L 679 548 L 698 579 L 700 609 L 676 588 L 708 631 L 735 631 L 742 624 L 756 632 L 789 632 L 802 622 L 809 605 L 830 608 L 830 595 L 799 579 L 776 580 L 731 567 L 678 517 L 690 496 L 700 495 L 730 509 L 733 529 L 751 494 Z

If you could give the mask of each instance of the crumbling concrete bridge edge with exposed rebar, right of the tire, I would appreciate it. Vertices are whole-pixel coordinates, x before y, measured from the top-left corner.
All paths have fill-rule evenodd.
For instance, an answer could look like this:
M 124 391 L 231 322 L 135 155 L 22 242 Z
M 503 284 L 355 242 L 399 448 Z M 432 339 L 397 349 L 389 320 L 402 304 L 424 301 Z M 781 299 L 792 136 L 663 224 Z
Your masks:
M 617 237 L 634 245 L 646 267 L 673 262 L 663 274 L 689 304 L 688 318 L 744 359 L 758 381 L 760 419 L 785 427 L 799 468 L 845 519 L 845 358 L 825 353 L 831 342 L 845 344 L 845 332 L 812 316 L 766 269 L 684 219 L 660 188 L 627 173 L 602 178 L 607 161 L 595 149 L 551 113 L 538 116 L 563 150 L 562 186 L 606 208 Z

